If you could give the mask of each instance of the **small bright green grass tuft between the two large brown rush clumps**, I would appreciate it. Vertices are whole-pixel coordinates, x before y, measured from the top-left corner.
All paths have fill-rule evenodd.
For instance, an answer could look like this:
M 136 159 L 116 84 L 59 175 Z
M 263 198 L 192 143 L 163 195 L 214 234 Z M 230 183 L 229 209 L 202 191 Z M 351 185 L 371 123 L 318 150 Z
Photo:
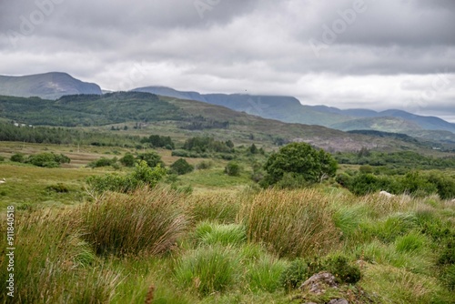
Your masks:
M 203 221 L 197 224 L 195 230 L 197 243 L 205 245 L 240 245 L 247 240 L 245 227 L 238 224 L 218 224 Z

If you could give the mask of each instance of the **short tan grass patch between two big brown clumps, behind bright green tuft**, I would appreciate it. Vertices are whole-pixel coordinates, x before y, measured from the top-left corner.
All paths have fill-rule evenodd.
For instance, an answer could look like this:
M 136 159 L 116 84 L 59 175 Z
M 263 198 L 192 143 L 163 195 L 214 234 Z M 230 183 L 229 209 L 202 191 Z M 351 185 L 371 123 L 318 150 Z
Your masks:
M 211 220 L 234 223 L 240 208 L 237 195 L 230 192 L 193 194 L 187 198 L 185 208 L 194 222 Z

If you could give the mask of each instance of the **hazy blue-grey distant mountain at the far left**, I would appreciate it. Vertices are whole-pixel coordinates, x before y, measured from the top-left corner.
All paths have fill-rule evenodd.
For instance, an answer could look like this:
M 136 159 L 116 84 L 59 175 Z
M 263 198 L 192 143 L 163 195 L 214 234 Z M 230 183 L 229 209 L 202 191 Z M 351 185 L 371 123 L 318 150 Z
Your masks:
M 60 96 L 75 94 L 101 95 L 96 84 L 82 82 L 66 73 L 45 73 L 30 76 L 0 76 L 0 95 L 38 96 L 56 99 Z

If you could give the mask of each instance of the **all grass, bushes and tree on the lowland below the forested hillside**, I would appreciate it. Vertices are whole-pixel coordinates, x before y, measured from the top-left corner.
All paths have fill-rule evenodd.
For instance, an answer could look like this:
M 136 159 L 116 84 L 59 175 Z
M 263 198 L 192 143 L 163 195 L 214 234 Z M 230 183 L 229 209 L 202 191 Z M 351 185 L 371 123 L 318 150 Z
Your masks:
M 145 138 L 160 148 L 101 150 L 73 168 L 37 167 L 66 159 L 57 148 L 2 152 L 18 302 L 453 302 L 452 171 L 339 168 L 304 143 L 270 153 L 204 136 L 171 152 L 167 137 Z M 323 271 L 336 289 L 300 289 Z

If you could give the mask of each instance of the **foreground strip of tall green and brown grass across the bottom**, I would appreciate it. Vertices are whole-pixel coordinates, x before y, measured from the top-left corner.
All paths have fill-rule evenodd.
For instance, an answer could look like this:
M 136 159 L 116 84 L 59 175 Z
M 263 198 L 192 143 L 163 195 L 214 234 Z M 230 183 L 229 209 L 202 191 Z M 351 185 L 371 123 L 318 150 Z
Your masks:
M 329 187 L 157 187 L 15 209 L 15 298 L 4 289 L 0 302 L 454 303 L 454 222 L 450 201 Z M 8 247 L 2 237 L 4 282 Z M 327 269 L 339 289 L 298 289 Z M 350 269 L 359 281 L 345 276 Z

